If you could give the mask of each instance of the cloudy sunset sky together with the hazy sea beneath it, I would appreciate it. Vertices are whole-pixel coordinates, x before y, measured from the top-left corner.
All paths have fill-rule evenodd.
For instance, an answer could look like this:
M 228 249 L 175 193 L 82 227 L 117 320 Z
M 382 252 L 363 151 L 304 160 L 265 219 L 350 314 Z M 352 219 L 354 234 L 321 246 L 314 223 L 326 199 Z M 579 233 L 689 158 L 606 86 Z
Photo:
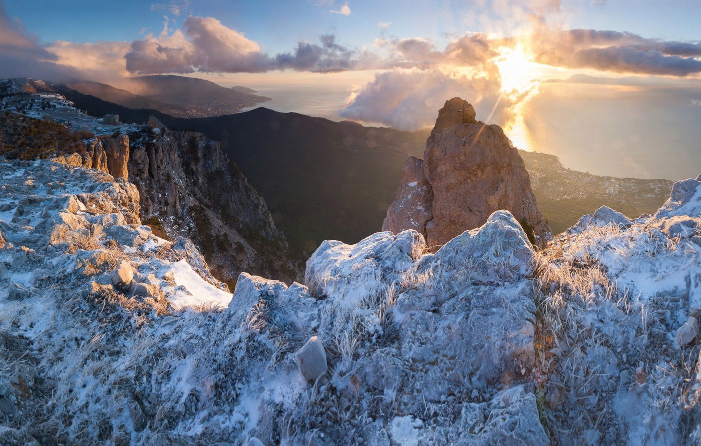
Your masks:
M 400 130 L 459 95 L 568 167 L 677 179 L 701 170 L 700 19 L 698 0 L 0 0 L 0 76 L 182 74 Z

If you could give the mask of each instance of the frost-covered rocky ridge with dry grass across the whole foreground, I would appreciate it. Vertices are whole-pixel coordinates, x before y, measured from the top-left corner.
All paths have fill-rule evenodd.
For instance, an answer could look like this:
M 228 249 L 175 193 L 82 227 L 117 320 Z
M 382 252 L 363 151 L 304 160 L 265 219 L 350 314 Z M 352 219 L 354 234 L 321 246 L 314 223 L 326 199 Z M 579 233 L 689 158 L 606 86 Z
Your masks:
M 701 439 L 701 176 L 540 252 L 499 210 L 434 253 L 414 230 L 326 241 L 304 284 L 242 273 L 233 296 L 140 224 L 133 184 L 0 177 L 4 444 Z

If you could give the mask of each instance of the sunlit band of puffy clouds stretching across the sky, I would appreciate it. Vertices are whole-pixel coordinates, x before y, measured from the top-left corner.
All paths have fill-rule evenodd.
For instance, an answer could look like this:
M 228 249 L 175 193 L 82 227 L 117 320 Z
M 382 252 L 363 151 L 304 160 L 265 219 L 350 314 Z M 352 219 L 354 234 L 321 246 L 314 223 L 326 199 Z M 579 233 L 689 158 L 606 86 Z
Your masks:
M 1 0 L 0 0 L 1 1 Z M 312 1 L 330 13 L 351 15 L 348 3 Z M 532 3 L 532 2 L 531 2 Z M 495 11 L 513 13 L 510 2 L 494 4 Z M 500 6 L 501 5 L 501 6 Z M 497 8 L 498 9 L 498 8 Z M 152 11 L 186 15 L 189 1 L 151 5 Z M 528 24 L 517 36 L 466 33 L 438 46 L 421 36 L 387 37 L 392 22 L 379 22 L 380 38 L 362 49 L 323 34 L 318 41 L 299 41 L 290 50 L 271 54 L 242 32 L 212 17 L 188 15 L 182 27 L 128 42 L 42 45 L 22 24 L 11 20 L 0 3 L 0 70 L 10 76 L 46 79 L 83 79 L 119 83 L 142 74 L 262 73 L 275 70 L 344 72 L 381 70 L 367 86 L 349 95 L 340 114 L 349 119 L 381 122 L 411 129 L 432 123 L 440 104 L 435 98 L 469 98 L 482 119 L 508 120 L 515 107 L 535 91 L 504 95 L 499 62 L 505 48 L 523 46 L 533 62 L 550 67 L 592 70 L 604 75 L 667 76 L 683 79 L 701 74 L 701 43 L 662 41 L 637 34 L 597 29 L 552 29 L 545 15 L 559 10 L 557 0 L 538 0 L 518 14 Z M 520 19 L 519 19 L 520 20 Z

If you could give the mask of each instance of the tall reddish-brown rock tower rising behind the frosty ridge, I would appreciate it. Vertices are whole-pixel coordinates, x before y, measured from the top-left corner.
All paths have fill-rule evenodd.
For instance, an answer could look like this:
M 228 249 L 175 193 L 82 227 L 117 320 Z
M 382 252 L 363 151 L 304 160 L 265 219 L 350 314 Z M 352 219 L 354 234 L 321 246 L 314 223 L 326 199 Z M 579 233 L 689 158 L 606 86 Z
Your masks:
M 438 113 L 423 161 L 407 161 L 383 230 L 416 229 L 435 249 L 501 209 L 534 245 L 552 239 L 517 149 L 499 126 L 475 121 L 472 106 L 454 97 Z

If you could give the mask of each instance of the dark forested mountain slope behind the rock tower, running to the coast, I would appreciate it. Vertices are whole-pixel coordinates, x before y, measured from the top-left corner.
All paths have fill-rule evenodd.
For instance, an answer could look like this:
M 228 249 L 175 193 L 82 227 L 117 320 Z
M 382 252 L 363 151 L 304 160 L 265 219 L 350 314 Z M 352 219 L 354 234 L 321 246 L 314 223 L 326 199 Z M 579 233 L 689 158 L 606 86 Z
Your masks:
M 395 198 L 407 156 L 423 156 L 428 137 L 428 130 L 403 133 L 263 107 L 231 116 L 177 119 L 69 89 L 62 94 L 95 116 L 118 113 L 125 122 L 143 123 L 154 114 L 170 128 L 197 130 L 222 141 L 222 149 L 264 196 L 296 251 L 309 252 L 313 243 L 323 239 L 351 243 L 379 230 Z M 603 177 L 586 182 L 595 176 L 566 169 L 552 155 L 519 153 L 540 211 L 554 234 L 601 205 L 618 208 L 628 217 L 651 212 L 664 203 L 671 184 L 630 179 L 628 186 L 625 179 L 618 179 L 622 192 L 612 196 L 605 193 Z

